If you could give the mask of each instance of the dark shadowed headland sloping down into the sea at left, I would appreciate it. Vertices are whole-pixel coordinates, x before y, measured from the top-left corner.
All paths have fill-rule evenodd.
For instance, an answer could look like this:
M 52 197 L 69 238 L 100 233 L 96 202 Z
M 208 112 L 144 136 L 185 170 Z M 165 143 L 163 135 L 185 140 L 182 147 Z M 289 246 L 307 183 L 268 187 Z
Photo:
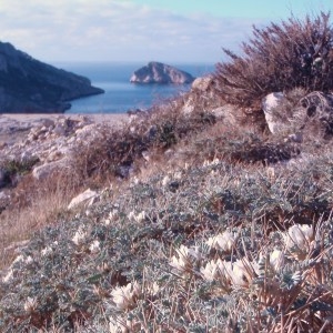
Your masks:
M 61 113 L 70 100 L 102 93 L 89 79 L 57 69 L 0 42 L 0 112 Z

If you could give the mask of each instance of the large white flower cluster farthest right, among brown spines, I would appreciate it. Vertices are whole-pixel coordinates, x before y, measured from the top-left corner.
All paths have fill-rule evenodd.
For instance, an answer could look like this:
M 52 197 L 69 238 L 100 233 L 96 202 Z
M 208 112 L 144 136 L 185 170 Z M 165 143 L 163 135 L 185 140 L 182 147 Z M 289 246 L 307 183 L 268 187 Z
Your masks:
M 306 224 L 294 224 L 282 235 L 285 248 L 300 259 L 309 253 L 314 240 L 313 228 Z

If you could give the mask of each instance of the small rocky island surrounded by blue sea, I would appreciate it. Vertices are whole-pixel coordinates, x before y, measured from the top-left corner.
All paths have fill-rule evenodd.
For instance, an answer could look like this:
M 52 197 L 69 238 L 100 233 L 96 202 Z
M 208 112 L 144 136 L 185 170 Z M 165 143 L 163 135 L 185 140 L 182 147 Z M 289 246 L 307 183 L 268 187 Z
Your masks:
M 132 74 L 130 82 L 185 84 L 192 83 L 194 79 L 195 78 L 193 78 L 190 73 L 181 71 L 172 65 L 152 61 L 149 62 L 148 65 L 137 70 Z

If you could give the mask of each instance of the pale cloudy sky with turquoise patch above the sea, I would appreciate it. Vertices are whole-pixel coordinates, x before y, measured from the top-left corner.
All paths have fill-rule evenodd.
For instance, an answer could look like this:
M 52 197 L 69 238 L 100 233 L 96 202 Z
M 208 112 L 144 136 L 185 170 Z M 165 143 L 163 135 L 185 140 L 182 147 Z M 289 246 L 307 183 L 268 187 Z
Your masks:
M 333 0 L 0 0 L 0 41 L 50 63 L 216 63 L 253 24 L 331 9 Z

